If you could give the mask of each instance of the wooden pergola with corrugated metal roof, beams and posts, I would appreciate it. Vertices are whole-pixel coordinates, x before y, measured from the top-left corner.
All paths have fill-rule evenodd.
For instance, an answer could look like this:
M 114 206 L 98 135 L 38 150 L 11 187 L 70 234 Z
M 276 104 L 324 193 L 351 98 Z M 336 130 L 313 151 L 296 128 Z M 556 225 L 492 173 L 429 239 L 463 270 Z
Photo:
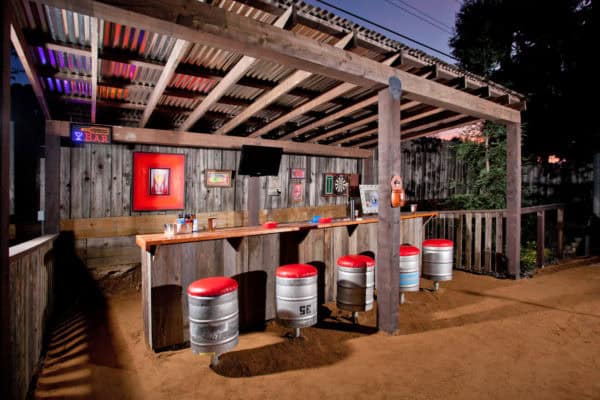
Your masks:
M 261 144 L 365 159 L 377 149 L 379 196 L 386 199 L 391 177 L 400 174 L 401 140 L 491 120 L 508 127 L 506 254 L 519 277 L 522 95 L 295 0 L 7 3 L 4 60 L 10 39 L 48 120 L 47 228 L 59 226 L 59 137 L 68 135 L 67 121 L 113 125 L 115 142 Z M 3 63 L 3 270 L 7 68 Z M 390 78 L 401 82 L 401 97 L 389 90 Z M 400 219 L 399 209 L 381 203 L 378 320 L 393 332 Z M 3 296 L 6 284 L 3 275 Z

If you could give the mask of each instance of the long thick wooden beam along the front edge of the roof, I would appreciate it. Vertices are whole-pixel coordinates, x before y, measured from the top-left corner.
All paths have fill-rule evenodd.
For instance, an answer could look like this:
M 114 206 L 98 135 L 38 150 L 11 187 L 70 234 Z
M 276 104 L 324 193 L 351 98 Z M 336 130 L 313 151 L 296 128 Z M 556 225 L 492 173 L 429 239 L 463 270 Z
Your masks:
M 35 1 L 116 23 L 145 27 L 190 42 L 260 57 L 365 88 L 387 85 L 390 77 L 395 76 L 402 81 L 403 95 L 411 100 L 476 118 L 506 124 L 521 122 L 520 112 L 509 107 L 200 2 L 186 2 L 183 9 L 178 0 L 152 2 L 151 7 L 147 3 L 140 6 L 139 1 L 124 3 L 120 0 Z M 182 11 L 185 12 L 183 19 Z M 188 19 L 191 23 L 186 26 L 177 24 L 178 20 Z

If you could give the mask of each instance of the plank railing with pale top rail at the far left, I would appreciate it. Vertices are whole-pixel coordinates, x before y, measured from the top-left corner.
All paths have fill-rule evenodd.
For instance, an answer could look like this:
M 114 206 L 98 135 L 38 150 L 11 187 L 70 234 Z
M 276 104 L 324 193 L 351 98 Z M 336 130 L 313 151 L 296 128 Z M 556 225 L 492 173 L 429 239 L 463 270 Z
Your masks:
M 9 365 L 7 398 L 25 399 L 38 371 L 44 334 L 54 307 L 56 235 L 12 246 L 9 250 Z

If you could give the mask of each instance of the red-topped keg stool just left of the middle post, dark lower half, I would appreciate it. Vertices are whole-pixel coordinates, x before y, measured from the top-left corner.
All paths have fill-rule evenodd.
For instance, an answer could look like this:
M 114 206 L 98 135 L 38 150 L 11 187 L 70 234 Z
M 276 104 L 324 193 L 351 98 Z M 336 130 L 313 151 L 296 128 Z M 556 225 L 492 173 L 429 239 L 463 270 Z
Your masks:
M 337 260 L 336 305 L 352 311 L 352 321 L 358 322 L 359 311 L 373 308 L 375 260 L 364 255 L 346 255 Z

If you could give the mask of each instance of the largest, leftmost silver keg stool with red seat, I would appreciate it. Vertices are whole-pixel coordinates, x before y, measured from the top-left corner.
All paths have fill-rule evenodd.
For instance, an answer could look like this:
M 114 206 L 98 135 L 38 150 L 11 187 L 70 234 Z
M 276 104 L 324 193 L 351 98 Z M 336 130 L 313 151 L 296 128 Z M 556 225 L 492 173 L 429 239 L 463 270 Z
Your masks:
M 192 352 L 219 355 L 238 343 L 238 284 L 224 276 L 204 278 L 188 286 Z

